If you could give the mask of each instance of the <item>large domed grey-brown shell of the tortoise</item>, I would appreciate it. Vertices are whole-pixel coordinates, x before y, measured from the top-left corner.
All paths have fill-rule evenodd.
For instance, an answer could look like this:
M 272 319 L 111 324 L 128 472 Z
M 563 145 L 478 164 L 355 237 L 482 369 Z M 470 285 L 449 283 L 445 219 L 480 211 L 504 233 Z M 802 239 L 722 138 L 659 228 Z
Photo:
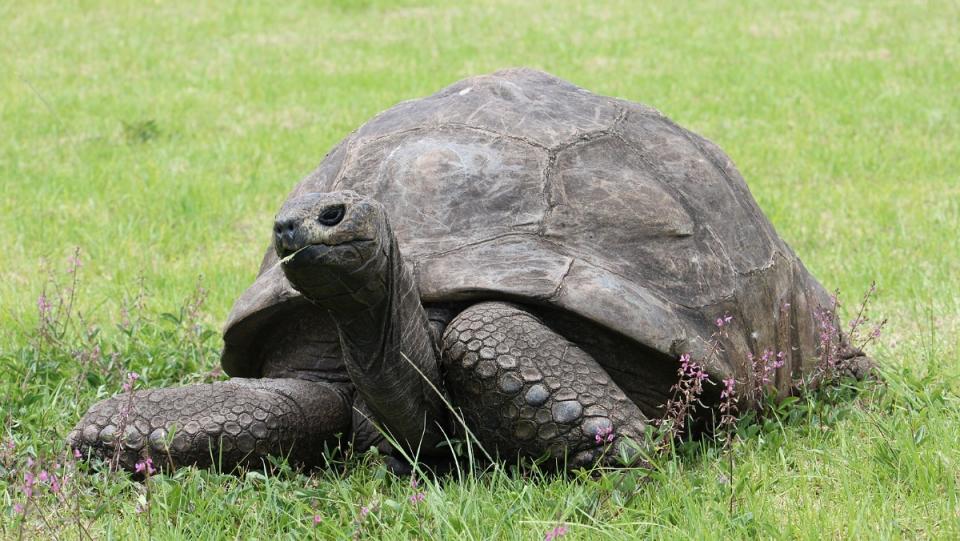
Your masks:
M 471 77 L 377 115 L 289 197 L 337 190 L 386 207 L 427 305 L 554 308 L 671 359 L 703 359 L 729 314 L 712 377 L 749 378 L 765 348 L 786 353 L 780 387 L 813 365 L 826 291 L 730 158 L 650 107 L 529 69 Z M 291 318 L 333 332 L 271 248 L 230 313 L 224 369 L 258 376 L 259 344 Z

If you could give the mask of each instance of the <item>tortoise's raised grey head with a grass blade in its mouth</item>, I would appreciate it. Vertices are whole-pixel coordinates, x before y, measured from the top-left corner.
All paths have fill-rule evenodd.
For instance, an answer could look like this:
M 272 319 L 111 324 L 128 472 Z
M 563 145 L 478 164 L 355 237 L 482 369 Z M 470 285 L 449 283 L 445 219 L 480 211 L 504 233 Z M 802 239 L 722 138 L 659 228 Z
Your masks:
M 352 191 L 291 199 L 277 213 L 273 245 L 291 285 L 315 304 L 350 311 L 386 295 L 396 247 L 373 199 Z

